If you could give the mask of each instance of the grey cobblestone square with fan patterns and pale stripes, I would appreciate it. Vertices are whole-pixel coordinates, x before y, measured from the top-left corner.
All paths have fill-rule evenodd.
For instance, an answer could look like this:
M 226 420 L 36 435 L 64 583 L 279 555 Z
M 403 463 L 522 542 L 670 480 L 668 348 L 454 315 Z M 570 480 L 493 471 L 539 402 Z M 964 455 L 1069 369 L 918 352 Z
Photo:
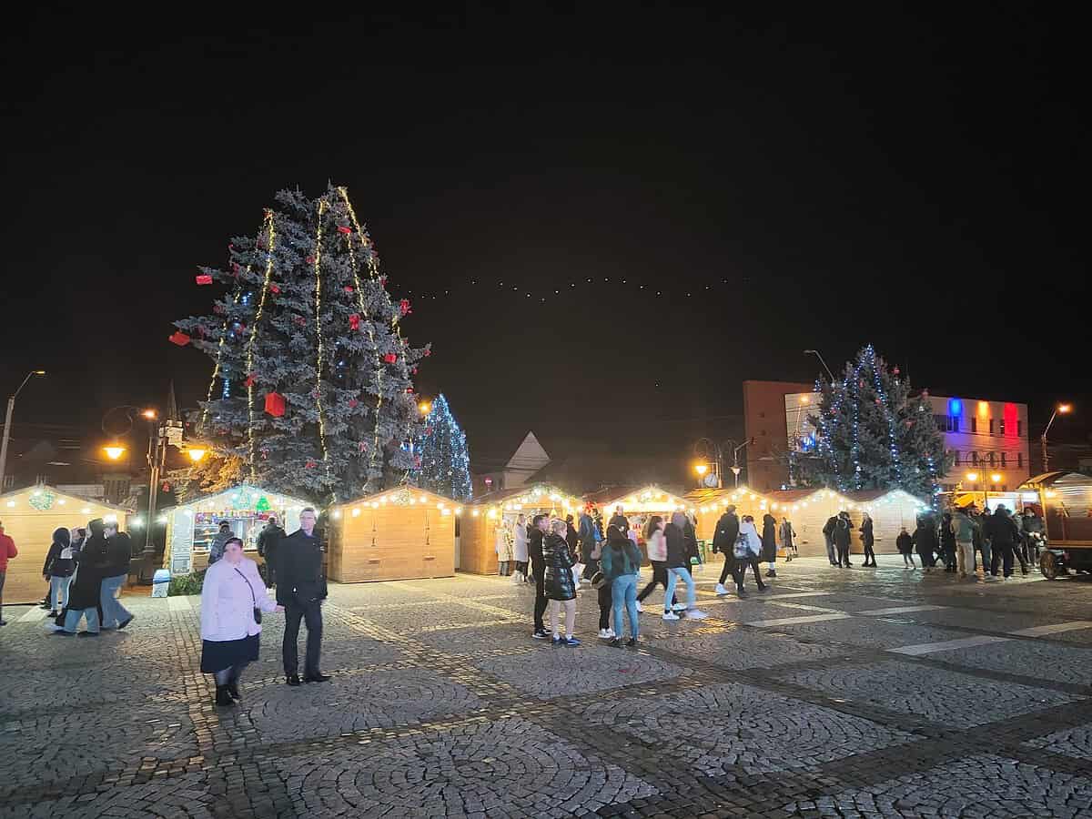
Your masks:
M 779 565 L 770 591 L 638 649 L 531 639 L 509 579 L 333 585 L 325 685 L 289 688 L 265 618 L 242 702 L 212 704 L 200 600 L 0 630 L 0 819 L 1092 817 L 1092 581 Z

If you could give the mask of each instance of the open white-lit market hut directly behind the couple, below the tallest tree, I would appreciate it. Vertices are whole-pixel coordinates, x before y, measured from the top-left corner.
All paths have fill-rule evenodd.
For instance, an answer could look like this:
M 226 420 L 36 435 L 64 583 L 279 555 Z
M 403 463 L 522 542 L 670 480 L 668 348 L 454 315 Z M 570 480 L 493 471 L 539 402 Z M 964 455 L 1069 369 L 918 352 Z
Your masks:
M 258 535 L 271 515 L 287 533 L 299 529 L 299 511 L 318 507 L 302 498 L 241 484 L 213 495 L 202 496 L 164 509 L 162 517 L 167 524 L 167 548 L 164 566 L 171 577 L 189 574 L 209 567 L 209 547 L 222 521 L 227 521 L 232 532 L 242 539 L 247 557 L 261 563 L 258 555 Z M 319 525 L 324 521 L 320 519 Z

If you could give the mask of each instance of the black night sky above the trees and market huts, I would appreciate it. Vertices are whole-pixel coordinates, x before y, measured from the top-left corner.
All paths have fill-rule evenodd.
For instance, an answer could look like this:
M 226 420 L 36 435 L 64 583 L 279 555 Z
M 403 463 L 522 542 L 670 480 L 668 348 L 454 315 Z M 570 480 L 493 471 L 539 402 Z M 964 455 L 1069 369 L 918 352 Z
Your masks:
M 277 189 L 332 180 L 413 290 L 418 391 L 449 395 L 483 461 L 529 428 L 727 434 L 743 379 L 810 380 L 805 347 L 838 366 L 866 342 L 1033 419 L 1076 397 L 1084 429 L 1071 21 L 227 5 L 8 27 L 0 385 L 49 370 L 24 422 L 94 430 L 171 378 L 193 405 L 211 363 L 166 336 L 207 310 L 195 265 Z

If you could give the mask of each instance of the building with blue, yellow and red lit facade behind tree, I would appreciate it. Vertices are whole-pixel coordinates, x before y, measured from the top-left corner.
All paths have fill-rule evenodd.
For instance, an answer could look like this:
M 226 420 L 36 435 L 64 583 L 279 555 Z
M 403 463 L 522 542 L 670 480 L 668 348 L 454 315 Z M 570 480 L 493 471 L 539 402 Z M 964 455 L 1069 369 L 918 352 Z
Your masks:
M 1028 405 L 963 396 L 928 395 L 945 447 L 956 465 L 943 491 L 1013 491 L 1031 477 Z M 790 452 L 816 446 L 809 420 L 818 396 L 811 384 L 744 381 L 747 483 L 760 492 L 793 486 Z

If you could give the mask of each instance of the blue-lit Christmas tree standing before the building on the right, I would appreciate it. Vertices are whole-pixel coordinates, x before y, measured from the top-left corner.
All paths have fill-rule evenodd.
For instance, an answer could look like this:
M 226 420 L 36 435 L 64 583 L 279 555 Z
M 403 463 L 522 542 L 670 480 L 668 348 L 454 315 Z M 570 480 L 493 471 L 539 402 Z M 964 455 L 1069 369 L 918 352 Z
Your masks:
M 794 455 L 797 482 L 852 489 L 901 488 L 931 496 L 950 467 L 943 436 L 923 391 L 889 370 L 868 345 L 847 361 L 841 379 L 816 382 L 815 448 Z

